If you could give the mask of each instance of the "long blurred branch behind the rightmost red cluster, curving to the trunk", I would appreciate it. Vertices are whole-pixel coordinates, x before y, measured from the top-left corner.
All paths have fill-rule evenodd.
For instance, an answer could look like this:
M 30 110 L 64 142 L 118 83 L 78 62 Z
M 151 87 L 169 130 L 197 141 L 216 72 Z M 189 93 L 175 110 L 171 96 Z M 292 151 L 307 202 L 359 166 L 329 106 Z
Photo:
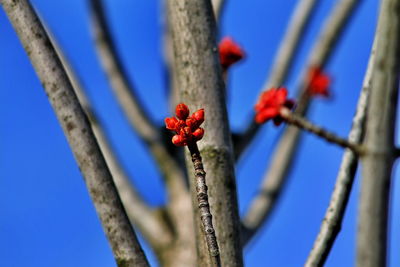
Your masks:
M 317 39 L 314 49 L 311 50 L 312 53 L 307 64 L 308 66 L 314 66 L 316 64 L 323 66 L 327 63 L 330 58 L 329 55 L 335 48 L 338 38 L 341 35 L 340 33 L 343 31 L 346 22 L 348 22 L 359 2 L 359 0 L 341 0 L 336 4 L 335 9 L 328 17 Z M 303 76 L 303 81 L 306 82 L 302 83 L 300 93 L 305 92 L 304 88 L 307 87 L 306 76 L 306 74 Z M 299 103 L 295 112 L 296 114 L 304 116 L 308 110 L 310 99 L 307 97 L 308 94 L 306 93 L 303 93 L 302 96 L 303 97 L 301 97 L 299 101 L 302 104 Z M 272 208 L 275 206 L 280 196 L 290 166 L 294 160 L 300 133 L 301 131 L 293 126 L 287 127 L 283 133 L 275 150 L 273 160 L 270 163 L 270 167 L 263 178 L 260 193 L 254 198 L 249 211 L 243 219 L 245 232 L 242 240 L 244 244 L 254 236 L 271 214 Z

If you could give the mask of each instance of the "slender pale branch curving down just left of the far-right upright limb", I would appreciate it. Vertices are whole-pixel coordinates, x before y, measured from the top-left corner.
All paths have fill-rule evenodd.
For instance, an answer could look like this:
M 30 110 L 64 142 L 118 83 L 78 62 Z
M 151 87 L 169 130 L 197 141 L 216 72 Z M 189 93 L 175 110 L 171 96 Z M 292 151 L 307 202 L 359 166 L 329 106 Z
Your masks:
M 365 133 L 365 120 L 368 106 L 368 96 L 371 87 L 372 62 L 374 47 L 371 51 L 367 71 L 364 78 L 363 88 L 357 104 L 357 111 L 353 118 L 353 125 L 349 134 L 349 141 L 361 143 Z M 326 210 L 324 220 L 314 246 L 307 258 L 305 267 L 323 266 L 329 252 L 340 232 L 344 213 L 350 197 L 354 177 L 358 165 L 358 155 L 347 149 L 342 157 L 342 163 L 338 172 L 329 206 Z

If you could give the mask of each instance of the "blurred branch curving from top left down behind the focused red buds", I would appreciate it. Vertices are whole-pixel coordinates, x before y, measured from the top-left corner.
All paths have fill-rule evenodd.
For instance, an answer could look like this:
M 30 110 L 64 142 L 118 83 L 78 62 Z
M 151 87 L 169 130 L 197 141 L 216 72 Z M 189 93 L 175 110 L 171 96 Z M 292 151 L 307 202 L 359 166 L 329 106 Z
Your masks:
M 133 93 L 126 73 L 124 72 L 122 63 L 118 58 L 118 53 L 112 41 L 110 29 L 107 26 L 102 0 L 91 0 L 93 27 L 96 36 L 96 47 L 102 60 L 104 69 L 110 79 L 112 89 L 121 104 L 131 126 L 139 134 L 139 136 L 149 146 L 157 164 L 159 165 L 164 177 L 168 182 L 169 179 L 182 180 L 175 182 L 181 183 L 180 186 L 174 187 L 174 190 L 184 190 L 184 174 L 182 169 L 168 152 L 166 145 L 163 143 L 161 131 L 151 122 L 146 115 L 143 107 L 140 105 L 137 97 Z

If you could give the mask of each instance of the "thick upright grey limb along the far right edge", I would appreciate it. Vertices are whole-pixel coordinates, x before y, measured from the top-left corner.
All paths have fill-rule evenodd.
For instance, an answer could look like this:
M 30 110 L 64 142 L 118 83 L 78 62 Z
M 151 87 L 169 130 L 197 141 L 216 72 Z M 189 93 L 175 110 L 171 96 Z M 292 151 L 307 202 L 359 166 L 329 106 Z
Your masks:
M 400 74 L 400 1 L 381 2 L 362 157 L 357 266 L 384 267 Z

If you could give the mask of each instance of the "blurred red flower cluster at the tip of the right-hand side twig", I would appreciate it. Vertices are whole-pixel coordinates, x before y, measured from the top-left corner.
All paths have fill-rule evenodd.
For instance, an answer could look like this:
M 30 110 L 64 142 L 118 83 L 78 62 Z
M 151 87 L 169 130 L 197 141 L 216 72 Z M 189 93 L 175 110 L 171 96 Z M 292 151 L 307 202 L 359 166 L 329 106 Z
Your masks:
M 261 94 L 258 103 L 255 105 L 256 110 L 255 121 L 264 123 L 273 119 L 275 125 L 279 125 L 284 120 L 280 116 L 281 108 L 292 109 L 294 101 L 287 99 L 286 88 L 271 88 Z

